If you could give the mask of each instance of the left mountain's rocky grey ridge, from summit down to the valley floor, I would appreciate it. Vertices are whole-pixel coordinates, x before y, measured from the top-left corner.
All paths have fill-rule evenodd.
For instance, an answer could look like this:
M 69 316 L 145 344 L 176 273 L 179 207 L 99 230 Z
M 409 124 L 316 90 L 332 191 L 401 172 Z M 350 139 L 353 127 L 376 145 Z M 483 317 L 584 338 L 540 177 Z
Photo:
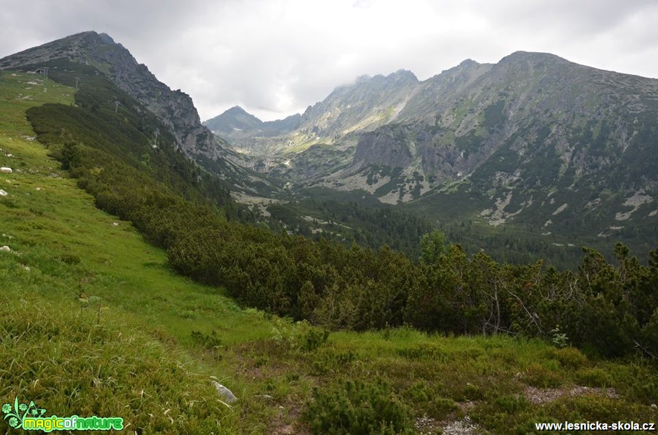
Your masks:
M 175 147 L 201 164 L 207 171 L 226 179 L 232 190 L 258 194 L 260 186 L 271 192 L 273 186 L 241 166 L 243 158 L 226 149 L 226 142 L 202 125 L 189 95 L 171 90 L 158 81 L 147 66 L 139 64 L 130 51 L 107 34 L 82 32 L 66 36 L 0 59 L 0 69 L 36 71 L 42 66 L 65 69 L 56 61 L 66 60 L 93 68 L 96 75 L 108 77 L 118 88 L 155 114 L 175 137 Z M 76 81 L 84 88 L 84 78 Z M 118 107 L 118 106 L 117 106 Z

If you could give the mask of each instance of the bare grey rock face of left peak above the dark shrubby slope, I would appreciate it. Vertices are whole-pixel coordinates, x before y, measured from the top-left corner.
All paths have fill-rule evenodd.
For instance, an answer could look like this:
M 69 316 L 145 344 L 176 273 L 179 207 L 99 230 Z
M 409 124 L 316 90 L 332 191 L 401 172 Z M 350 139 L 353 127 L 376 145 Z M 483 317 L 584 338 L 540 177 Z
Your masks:
M 178 146 L 188 156 L 202 154 L 211 159 L 221 156 L 222 151 L 212 134 L 201 124 L 191 97 L 159 82 L 144 64 L 138 64 L 130 51 L 106 34 L 83 32 L 48 42 L 0 59 L 0 68 L 60 58 L 90 64 L 106 73 L 119 88 L 141 101 L 171 129 Z

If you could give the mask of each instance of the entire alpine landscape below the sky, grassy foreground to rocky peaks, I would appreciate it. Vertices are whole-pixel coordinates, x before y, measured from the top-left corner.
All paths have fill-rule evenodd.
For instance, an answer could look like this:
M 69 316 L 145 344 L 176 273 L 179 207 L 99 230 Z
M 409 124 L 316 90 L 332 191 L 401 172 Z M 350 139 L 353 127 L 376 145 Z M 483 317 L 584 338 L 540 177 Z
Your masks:
M 2 58 L 0 432 L 653 423 L 657 119 L 545 53 L 205 123 L 107 34 Z

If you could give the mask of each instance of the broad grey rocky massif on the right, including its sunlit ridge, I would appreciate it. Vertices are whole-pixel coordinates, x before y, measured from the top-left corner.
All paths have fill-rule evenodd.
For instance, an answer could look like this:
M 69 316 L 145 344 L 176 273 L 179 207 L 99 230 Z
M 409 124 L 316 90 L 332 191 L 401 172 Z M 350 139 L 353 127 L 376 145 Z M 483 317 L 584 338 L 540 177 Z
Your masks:
M 443 223 L 502 225 L 565 249 L 609 238 L 650 249 L 655 119 L 657 79 L 518 51 L 422 82 L 408 71 L 360 77 L 249 151 L 255 169 L 293 190 L 361 190 Z

